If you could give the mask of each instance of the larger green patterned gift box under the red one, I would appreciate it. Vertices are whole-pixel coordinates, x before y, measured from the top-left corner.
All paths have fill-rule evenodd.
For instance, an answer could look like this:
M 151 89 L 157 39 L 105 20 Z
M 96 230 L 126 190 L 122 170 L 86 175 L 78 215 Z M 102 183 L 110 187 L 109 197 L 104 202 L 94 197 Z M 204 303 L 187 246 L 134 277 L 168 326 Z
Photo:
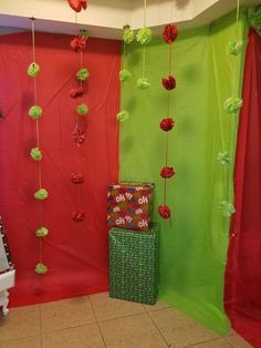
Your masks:
M 158 295 L 157 224 L 138 233 L 109 231 L 109 297 L 154 305 Z

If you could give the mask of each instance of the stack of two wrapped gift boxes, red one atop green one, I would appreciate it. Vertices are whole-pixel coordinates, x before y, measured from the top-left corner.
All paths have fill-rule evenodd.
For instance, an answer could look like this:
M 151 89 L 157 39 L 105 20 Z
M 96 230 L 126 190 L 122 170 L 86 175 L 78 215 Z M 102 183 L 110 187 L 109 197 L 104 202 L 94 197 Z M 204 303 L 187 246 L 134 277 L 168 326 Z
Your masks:
M 154 305 L 158 294 L 158 225 L 153 184 L 107 186 L 109 296 Z

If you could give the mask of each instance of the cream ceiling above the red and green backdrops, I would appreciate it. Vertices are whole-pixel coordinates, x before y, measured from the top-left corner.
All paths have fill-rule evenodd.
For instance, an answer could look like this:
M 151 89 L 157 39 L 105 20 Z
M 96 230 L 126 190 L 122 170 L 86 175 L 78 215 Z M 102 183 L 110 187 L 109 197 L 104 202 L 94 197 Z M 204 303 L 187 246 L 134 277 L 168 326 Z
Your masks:
M 240 0 L 241 6 L 257 0 Z M 179 29 L 207 24 L 232 11 L 237 0 L 146 0 L 146 25 L 154 33 L 175 22 Z M 15 4 L 15 6 L 14 6 Z M 91 37 L 121 39 L 122 29 L 144 27 L 144 0 L 88 0 L 88 8 L 77 14 L 66 0 L 0 0 L 0 33 L 30 29 L 35 18 L 39 31 L 75 34 L 80 28 Z

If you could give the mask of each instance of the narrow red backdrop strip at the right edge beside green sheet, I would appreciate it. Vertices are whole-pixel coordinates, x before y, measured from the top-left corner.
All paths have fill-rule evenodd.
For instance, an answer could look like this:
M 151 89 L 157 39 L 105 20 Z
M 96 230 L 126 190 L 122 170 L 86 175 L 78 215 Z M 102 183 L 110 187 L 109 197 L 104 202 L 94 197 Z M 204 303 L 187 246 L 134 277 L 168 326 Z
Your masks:
M 246 57 L 234 190 L 226 308 L 233 328 L 261 348 L 261 38 L 253 30 Z

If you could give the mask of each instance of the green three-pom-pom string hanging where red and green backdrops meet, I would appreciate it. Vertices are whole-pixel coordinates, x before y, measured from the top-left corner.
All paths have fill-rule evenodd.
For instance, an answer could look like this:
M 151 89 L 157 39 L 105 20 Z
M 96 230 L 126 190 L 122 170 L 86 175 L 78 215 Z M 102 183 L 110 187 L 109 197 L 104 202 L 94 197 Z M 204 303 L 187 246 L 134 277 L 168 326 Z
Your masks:
M 123 69 L 119 71 L 118 76 L 122 84 L 122 110 L 116 114 L 118 122 L 124 122 L 128 119 L 128 111 L 124 109 L 125 105 L 125 82 L 132 79 L 132 72 L 126 69 L 126 44 L 129 44 L 135 39 L 134 31 L 128 24 L 123 27 Z

